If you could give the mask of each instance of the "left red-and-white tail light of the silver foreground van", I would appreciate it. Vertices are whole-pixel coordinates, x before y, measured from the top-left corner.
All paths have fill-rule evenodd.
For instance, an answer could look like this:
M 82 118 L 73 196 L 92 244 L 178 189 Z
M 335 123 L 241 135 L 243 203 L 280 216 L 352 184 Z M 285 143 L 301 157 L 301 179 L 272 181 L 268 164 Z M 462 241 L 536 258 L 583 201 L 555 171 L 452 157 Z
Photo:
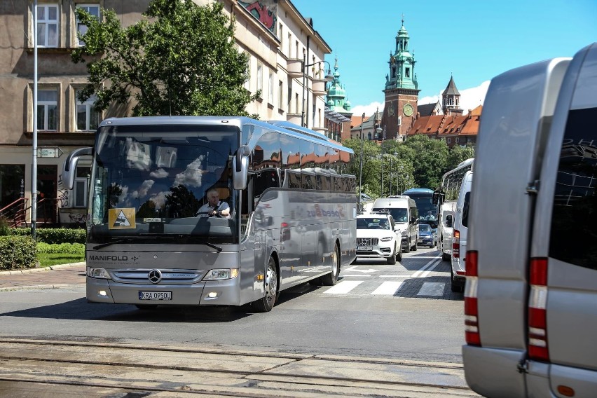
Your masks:
M 479 281 L 476 250 L 467 252 L 467 283 L 465 284 L 465 337 L 469 345 L 481 345 L 479 334 L 479 308 L 476 287 Z

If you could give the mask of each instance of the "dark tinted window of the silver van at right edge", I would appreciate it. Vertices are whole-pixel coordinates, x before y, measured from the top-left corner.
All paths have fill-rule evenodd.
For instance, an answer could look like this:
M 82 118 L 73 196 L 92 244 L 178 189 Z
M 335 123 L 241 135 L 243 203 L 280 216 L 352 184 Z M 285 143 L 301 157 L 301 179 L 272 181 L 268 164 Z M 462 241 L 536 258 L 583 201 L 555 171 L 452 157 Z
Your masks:
M 549 256 L 577 266 L 597 269 L 597 137 L 590 128 L 597 108 L 570 111 L 564 133 Z

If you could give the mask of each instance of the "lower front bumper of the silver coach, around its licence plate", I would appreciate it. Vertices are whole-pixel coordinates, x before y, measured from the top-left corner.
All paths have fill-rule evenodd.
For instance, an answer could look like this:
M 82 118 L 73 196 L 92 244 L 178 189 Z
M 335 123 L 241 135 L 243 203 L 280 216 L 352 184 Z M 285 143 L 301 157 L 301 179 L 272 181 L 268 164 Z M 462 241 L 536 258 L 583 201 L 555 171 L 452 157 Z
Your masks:
M 238 278 L 193 284 L 128 284 L 87 277 L 89 303 L 119 303 L 149 306 L 238 306 Z M 147 294 L 149 292 L 149 294 Z M 140 299 L 141 296 L 164 297 Z

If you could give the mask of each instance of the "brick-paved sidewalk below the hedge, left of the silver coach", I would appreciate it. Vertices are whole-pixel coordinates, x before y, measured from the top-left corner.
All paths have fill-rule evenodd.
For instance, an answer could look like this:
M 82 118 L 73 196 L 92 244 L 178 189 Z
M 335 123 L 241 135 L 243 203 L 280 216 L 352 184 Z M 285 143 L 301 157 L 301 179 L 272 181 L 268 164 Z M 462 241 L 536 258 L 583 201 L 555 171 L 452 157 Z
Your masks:
M 85 284 L 85 263 L 0 271 L 0 291 L 57 289 Z

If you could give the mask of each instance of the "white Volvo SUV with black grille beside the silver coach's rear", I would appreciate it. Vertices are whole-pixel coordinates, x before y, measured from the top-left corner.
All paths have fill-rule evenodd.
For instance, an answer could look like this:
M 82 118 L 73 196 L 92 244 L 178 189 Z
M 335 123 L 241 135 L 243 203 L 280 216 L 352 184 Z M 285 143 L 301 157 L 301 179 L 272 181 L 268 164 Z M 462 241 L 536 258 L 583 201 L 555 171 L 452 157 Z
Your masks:
M 357 259 L 384 258 L 388 264 L 402 260 L 401 235 L 387 213 L 357 216 Z

